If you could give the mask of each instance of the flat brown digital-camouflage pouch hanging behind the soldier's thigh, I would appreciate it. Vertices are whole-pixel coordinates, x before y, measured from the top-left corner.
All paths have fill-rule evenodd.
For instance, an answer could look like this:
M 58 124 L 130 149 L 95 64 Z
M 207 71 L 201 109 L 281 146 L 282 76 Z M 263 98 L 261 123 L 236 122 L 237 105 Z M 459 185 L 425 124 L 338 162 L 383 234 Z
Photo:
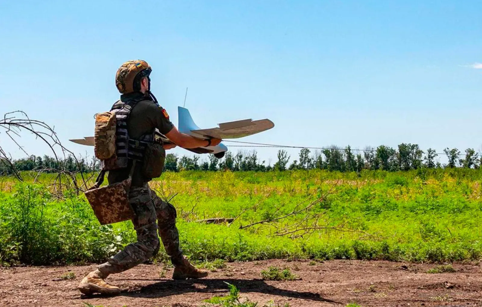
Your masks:
M 85 192 L 85 197 L 101 225 L 130 220 L 135 217 L 134 209 L 129 203 L 129 190 L 134 167 L 135 161 L 128 179 L 100 187 L 106 174 L 106 170 L 103 169 L 94 186 Z

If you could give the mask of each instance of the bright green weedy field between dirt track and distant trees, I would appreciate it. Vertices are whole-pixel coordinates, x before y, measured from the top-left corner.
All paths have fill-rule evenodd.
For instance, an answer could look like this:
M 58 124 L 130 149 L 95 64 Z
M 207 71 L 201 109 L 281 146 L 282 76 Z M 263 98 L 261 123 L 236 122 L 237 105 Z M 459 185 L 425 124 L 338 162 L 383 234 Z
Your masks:
M 100 262 L 135 240 L 131 222 L 100 226 L 83 194 L 64 187 L 62 199 L 55 197 L 54 176 L 1 178 L 2 264 Z M 161 197 L 175 195 L 191 259 L 444 262 L 482 257 L 481 182 L 482 170 L 474 169 L 184 171 L 167 172 L 152 187 Z M 215 217 L 236 220 L 196 222 Z M 267 222 L 240 229 L 260 221 Z M 165 259 L 161 251 L 157 260 Z

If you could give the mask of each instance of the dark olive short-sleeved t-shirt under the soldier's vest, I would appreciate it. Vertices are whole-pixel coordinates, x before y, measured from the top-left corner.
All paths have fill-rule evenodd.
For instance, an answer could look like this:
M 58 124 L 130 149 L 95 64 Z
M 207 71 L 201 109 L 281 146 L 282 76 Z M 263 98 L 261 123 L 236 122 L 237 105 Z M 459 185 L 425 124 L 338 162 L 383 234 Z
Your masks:
M 121 95 L 120 100 L 124 101 L 131 98 L 136 98 L 141 95 L 139 93 Z M 133 139 L 140 138 L 144 134 L 152 133 L 154 129 L 159 129 L 159 132 L 166 134 L 174 128 L 174 125 L 169 120 L 169 115 L 163 108 L 151 100 L 142 100 L 132 108 L 129 118 L 127 119 L 127 131 L 129 137 Z M 132 167 L 132 160 L 129 160 L 127 168 L 115 169 L 109 171 L 107 179 L 109 184 L 120 182 L 129 177 L 129 172 Z M 139 187 L 151 178 L 142 176 L 142 162 L 137 161 L 134 174 L 132 175 L 132 186 Z

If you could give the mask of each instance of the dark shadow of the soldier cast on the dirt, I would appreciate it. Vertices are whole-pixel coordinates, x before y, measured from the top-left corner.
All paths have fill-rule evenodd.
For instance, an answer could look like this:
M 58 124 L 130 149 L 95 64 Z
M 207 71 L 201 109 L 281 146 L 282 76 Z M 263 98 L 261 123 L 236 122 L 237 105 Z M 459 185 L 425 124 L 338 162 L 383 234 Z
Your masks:
M 321 297 L 320 294 L 312 292 L 298 292 L 276 288 L 267 284 L 263 280 L 248 279 L 198 279 L 186 281 L 165 280 L 143 286 L 135 292 L 123 292 L 120 295 L 129 297 L 165 297 L 176 294 L 184 294 L 189 292 L 211 293 L 214 295 L 224 295 L 228 291 L 226 282 L 235 285 L 240 292 L 258 292 L 264 294 L 279 295 L 284 297 L 308 299 L 313 301 L 322 301 L 329 303 L 337 303 L 330 299 Z

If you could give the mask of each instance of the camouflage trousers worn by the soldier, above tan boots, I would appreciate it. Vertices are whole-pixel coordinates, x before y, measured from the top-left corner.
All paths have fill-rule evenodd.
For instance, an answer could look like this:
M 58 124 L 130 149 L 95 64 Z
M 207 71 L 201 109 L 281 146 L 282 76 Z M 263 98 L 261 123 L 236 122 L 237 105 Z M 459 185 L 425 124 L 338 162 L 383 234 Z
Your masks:
M 174 265 L 181 263 L 182 250 L 179 247 L 179 233 L 176 228 L 176 210 L 152 191 L 147 183 L 132 188 L 129 202 L 136 217 L 132 220 L 137 233 L 137 242 L 131 243 L 97 267 L 106 274 L 120 273 L 131 269 L 155 256 L 161 246 L 159 237 Z M 157 220 L 157 225 L 156 225 Z

